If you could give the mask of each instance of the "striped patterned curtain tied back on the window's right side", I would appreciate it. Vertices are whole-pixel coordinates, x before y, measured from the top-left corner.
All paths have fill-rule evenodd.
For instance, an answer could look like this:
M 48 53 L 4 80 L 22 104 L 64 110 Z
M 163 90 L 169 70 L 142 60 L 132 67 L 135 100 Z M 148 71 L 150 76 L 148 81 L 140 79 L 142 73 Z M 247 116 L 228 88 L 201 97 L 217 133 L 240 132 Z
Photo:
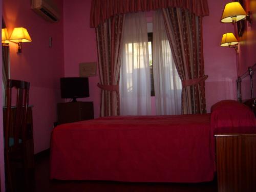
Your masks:
M 181 8 L 162 9 L 165 29 L 182 81 L 182 113 L 206 113 L 202 17 Z

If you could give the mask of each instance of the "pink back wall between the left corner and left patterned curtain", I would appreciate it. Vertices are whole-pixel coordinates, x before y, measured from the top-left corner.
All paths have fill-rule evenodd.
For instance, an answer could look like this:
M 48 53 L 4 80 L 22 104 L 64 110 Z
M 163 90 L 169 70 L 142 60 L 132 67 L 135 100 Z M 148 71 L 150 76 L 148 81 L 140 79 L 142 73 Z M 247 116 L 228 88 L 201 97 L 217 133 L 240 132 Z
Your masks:
M 78 77 L 80 62 L 97 62 L 95 29 L 90 28 L 91 0 L 64 0 L 64 63 L 65 76 Z M 93 101 L 94 117 L 99 117 L 99 77 L 89 77 L 90 97 L 79 99 Z

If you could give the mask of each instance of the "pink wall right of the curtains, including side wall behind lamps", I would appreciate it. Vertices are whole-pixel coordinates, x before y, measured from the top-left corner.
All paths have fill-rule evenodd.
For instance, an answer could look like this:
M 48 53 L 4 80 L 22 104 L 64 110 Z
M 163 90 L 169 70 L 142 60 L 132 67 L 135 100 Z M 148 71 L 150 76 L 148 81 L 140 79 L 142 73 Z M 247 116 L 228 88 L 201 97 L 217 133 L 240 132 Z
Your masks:
M 237 54 L 233 49 L 219 46 L 223 33 L 233 32 L 237 36 L 237 25 L 220 22 L 222 11 L 230 0 L 208 0 L 210 15 L 203 20 L 205 74 L 209 75 L 205 82 L 208 112 L 210 106 L 219 100 L 237 99 L 237 76 L 245 73 L 248 67 L 256 63 L 256 1 L 245 0 L 244 2 L 246 12 L 253 13 L 253 21 L 250 26 L 246 23 L 245 32 L 239 38 Z M 250 98 L 247 85 L 245 88 L 245 83 L 242 84 L 242 87 L 247 89 L 242 91 L 244 99 Z

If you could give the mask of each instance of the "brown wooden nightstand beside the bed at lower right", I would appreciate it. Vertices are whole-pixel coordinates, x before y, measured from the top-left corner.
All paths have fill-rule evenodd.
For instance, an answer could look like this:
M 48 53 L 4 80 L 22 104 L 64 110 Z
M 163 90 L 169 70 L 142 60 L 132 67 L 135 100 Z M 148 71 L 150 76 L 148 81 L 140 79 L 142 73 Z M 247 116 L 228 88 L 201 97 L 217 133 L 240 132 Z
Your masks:
M 218 191 L 256 191 L 256 134 L 216 135 Z

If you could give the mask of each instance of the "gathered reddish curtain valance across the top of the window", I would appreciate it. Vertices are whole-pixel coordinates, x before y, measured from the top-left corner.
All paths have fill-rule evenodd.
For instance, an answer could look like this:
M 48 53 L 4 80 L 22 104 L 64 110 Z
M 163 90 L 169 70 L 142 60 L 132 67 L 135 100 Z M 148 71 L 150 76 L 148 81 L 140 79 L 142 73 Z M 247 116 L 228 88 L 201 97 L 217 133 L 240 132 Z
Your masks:
M 90 27 L 96 28 L 113 15 L 168 7 L 188 9 L 196 16 L 209 15 L 207 0 L 92 0 Z

